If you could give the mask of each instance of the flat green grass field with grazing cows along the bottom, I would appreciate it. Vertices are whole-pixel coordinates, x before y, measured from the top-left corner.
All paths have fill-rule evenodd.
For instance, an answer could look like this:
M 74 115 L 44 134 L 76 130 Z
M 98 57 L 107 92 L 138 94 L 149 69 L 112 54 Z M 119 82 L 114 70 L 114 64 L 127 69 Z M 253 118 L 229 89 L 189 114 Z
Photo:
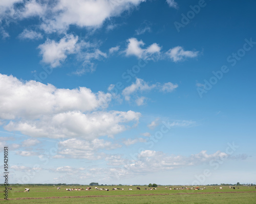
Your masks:
M 8 191 L 8 200 L 4 199 L 4 187 L 0 187 L 2 197 L 0 203 L 256 203 L 255 187 L 239 186 L 236 189 L 230 189 L 228 186 L 205 186 L 204 190 L 174 190 L 181 186 L 172 186 L 172 190 L 165 186 L 157 187 L 156 190 L 136 190 L 137 186 L 118 186 L 124 190 L 115 190 L 117 186 L 103 186 L 98 188 L 108 188 L 110 191 L 92 190 L 86 191 L 66 191 L 66 188 L 86 188 L 86 186 L 11 186 L 12 190 Z M 25 193 L 24 189 L 29 188 L 30 192 Z M 132 188 L 133 190 L 128 190 Z M 203 188 L 203 187 L 202 187 Z M 216 188 L 216 189 L 214 189 Z

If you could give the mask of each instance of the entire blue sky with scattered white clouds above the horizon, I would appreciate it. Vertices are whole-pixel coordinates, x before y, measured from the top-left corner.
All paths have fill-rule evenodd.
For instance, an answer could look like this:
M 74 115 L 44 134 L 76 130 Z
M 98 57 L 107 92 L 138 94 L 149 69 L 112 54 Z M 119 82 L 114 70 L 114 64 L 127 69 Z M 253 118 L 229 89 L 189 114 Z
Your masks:
M 255 184 L 255 4 L 1 1 L 9 182 Z

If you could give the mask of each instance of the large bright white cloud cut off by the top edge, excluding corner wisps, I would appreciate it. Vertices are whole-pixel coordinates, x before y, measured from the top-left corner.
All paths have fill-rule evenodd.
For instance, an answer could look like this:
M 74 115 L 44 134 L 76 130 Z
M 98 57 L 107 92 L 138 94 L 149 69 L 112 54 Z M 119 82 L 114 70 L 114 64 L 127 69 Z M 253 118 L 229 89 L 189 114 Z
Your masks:
M 59 0 L 52 8 L 52 16 L 42 23 L 46 32 L 65 32 L 69 25 L 77 27 L 98 28 L 112 16 L 118 16 L 125 10 L 130 10 L 145 0 Z

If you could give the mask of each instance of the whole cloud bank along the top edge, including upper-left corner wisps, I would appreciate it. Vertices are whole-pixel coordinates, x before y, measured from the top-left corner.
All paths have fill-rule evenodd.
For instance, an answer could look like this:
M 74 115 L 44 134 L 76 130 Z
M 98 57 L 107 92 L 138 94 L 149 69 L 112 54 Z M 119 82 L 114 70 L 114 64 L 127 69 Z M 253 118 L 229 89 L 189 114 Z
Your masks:
M 145 0 L 2 0 L 0 19 L 41 19 L 40 28 L 46 33 L 65 33 L 70 25 L 80 28 L 99 28 L 105 20 L 129 11 Z M 18 7 L 15 4 L 19 3 Z

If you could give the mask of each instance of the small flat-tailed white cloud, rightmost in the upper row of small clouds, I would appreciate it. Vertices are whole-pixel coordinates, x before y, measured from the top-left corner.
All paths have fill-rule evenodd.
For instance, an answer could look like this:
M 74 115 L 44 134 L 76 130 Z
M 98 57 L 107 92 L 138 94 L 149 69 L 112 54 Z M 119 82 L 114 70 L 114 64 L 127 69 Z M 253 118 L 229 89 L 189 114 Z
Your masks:
M 174 62 L 179 62 L 186 58 L 195 58 L 198 56 L 198 53 L 198 51 L 185 51 L 181 46 L 176 46 L 169 49 L 166 55 Z

